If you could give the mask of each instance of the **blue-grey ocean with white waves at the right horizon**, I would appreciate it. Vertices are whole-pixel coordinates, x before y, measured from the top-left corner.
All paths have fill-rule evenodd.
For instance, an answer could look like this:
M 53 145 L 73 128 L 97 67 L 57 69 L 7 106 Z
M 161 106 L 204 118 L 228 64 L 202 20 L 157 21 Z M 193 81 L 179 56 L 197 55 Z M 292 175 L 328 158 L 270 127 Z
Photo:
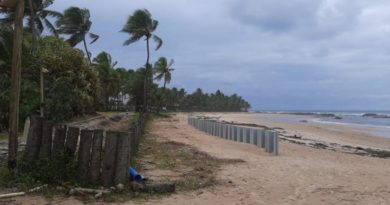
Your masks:
M 341 124 L 358 128 L 379 137 L 390 138 L 390 111 L 258 111 L 259 118 L 276 122 Z

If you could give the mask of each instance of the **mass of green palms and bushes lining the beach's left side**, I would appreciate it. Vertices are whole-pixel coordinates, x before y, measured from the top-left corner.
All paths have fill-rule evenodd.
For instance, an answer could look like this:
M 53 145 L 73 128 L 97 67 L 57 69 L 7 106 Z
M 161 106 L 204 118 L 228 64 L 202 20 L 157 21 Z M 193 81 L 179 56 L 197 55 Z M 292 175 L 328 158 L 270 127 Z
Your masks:
M 97 111 L 243 111 L 250 107 L 236 94 L 207 94 L 200 88 L 187 94 L 184 89 L 167 88 L 174 61 L 160 57 L 150 62 L 150 41 L 156 43 L 155 50 L 163 42 L 155 34 L 158 21 L 148 10 L 135 10 L 121 30 L 129 35 L 124 45 L 145 40 L 146 63 L 138 69 L 116 68 L 109 53 L 102 51 L 93 58 L 88 50 L 87 43 L 99 38 L 91 33 L 90 11 L 73 6 L 63 13 L 48 10 L 54 2 L 20 0 L 15 8 L 0 10 L 0 133 L 10 130 L 8 164 L 13 175 L 18 129 L 28 116 L 40 114 L 63 123 Z M 79 43 L 84 52 L 75 47 Z M 163 86 L 154 80 L 163 80 Z

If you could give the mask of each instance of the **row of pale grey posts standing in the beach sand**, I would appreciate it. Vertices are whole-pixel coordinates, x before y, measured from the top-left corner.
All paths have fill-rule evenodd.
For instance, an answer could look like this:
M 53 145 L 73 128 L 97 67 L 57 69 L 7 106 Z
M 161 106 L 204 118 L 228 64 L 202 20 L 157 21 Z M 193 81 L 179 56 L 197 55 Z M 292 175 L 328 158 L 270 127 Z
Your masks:
M 274 155 L 279 153 L 278 133 L 271 130 L 243 127 L 196 116 L 189 116 L 188 124 L 213 136 L 253 144 Z

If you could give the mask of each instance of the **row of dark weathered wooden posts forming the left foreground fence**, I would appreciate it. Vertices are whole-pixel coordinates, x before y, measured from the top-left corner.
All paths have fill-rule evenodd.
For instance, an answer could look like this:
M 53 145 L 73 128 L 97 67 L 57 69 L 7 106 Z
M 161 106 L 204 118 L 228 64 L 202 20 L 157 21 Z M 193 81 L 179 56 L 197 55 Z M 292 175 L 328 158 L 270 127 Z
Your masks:
M 54 125 L 41 117 L 32 117 L 25 157 L 33 163 L 65 155 L 77 162 L 80 182 L 106 187 L 123 184 L 129 179 L 128 166 L 143 127 L 142 115 L 128 132 Z

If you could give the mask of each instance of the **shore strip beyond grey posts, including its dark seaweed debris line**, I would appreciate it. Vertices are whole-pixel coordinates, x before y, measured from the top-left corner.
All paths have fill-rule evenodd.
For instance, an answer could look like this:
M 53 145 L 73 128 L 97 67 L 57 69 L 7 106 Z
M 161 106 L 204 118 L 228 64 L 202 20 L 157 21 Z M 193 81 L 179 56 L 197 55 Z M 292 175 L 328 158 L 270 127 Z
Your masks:
M 369 157 L 390 158 L 390 139 L 333 123 L 273 122 L 264 113 L 201 113 L 227 123 L 261 127 L 278 132 L 280 139 L 316 149 Z M 277 114 L 288 115 L 288 114 Z

